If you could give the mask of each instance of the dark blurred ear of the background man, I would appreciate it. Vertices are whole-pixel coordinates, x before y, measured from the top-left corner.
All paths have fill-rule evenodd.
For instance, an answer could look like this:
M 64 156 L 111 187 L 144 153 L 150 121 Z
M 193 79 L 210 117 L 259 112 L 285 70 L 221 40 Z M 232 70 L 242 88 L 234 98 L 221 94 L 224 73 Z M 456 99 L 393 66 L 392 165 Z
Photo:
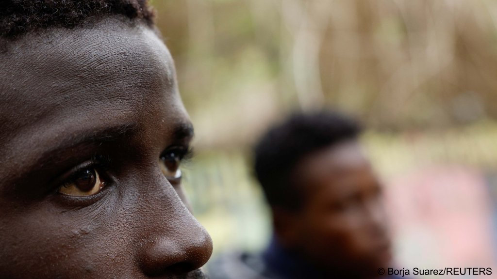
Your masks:
M 297 212 L 281 207 L 272 207 L 273 228 L 280 244 L 285 248 L 295 248 L 300 234 Z

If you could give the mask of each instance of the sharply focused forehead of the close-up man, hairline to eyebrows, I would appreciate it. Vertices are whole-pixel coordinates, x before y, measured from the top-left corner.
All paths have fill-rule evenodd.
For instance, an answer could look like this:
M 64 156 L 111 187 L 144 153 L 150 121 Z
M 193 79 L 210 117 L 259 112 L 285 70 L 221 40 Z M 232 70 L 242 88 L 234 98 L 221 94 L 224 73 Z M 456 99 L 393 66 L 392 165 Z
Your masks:
M 171 56 L 141 24 L 109 18 L 28 34 L 8 42 L 0 68 L 0 155 L 76 130 L 187 121 Z

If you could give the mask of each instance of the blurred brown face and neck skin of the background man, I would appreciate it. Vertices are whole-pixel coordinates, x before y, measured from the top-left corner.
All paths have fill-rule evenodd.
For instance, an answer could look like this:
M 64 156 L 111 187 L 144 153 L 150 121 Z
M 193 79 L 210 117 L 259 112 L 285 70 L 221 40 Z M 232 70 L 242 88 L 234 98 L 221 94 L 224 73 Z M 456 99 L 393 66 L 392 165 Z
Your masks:
M 287 249 L 325 278 L 376 278 L 391 261 L 381 185 L 355 140 L 305 157 L 294 170 L 298 210 L 274 208 L 275 231 Z

